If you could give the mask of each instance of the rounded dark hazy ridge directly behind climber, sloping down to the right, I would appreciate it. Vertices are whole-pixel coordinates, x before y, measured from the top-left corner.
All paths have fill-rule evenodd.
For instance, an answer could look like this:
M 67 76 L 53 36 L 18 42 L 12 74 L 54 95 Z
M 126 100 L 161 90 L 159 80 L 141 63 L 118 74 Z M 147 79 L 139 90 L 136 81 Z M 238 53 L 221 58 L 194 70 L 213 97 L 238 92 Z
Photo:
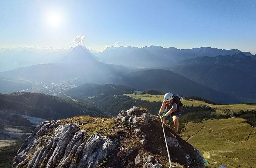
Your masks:
M 200 96 L 217 103 L 240 102 L 235 96 L 212 90 L 177 73 L 161 69 L 134 71 L 122 76 L 122 80 L 116 83 L 138 90 L 158 90 L 178 95 Z

